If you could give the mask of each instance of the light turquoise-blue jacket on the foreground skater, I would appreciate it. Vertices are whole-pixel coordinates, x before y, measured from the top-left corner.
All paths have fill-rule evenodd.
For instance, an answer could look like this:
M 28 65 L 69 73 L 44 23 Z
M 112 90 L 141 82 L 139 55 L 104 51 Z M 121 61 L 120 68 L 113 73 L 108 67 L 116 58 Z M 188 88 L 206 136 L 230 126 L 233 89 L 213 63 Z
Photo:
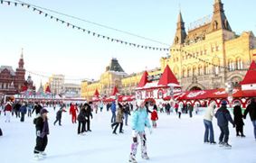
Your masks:
M 146 108 L 138 108 L 131 117 L 131 128 L 135 131 L 145 131 L 145 126 L 151 128 Z

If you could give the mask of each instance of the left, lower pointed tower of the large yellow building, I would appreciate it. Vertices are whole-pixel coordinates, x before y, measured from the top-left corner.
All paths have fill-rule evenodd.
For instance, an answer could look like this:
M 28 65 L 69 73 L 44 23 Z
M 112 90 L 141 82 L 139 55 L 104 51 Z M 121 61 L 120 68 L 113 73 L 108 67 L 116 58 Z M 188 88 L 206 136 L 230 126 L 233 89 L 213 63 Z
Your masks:
M 186 32 L 185 32 L 185 23 L 183 22 L 181 12 L 178 14 L 178 20 L 177 20 L 177 28 L 175 32 L 175 40 L 174 45 L 176 44 L 182 44 L 185 42 Z

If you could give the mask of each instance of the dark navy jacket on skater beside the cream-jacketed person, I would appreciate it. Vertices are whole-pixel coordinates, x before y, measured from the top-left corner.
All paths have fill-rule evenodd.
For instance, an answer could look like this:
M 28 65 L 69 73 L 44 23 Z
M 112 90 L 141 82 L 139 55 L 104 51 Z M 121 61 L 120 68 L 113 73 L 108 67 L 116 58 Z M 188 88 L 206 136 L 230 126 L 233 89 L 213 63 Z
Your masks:
M 215 117 L 217 118 L 219 126 L 227 126 L 228 122 L 234 124 L 234 122 L 232 121 L 231 114 L 227 110 L 226 106 L 220 107 L 220 109 L 218 109 L 217 112 L 215 113 Z

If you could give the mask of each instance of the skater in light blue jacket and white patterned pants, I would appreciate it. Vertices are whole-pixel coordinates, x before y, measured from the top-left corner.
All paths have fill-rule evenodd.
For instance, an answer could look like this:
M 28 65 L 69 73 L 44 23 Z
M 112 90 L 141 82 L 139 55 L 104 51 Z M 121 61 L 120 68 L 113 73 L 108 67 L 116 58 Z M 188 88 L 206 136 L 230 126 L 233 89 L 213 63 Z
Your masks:
M 147 116 L 147 111 L 143 101 L 137 103 L 138 108 L 132 114 L 131 128 L 132 128 L 132 139 L 131 151 L 129 154 L 129 162 L 137 163 L 136 154 L 138 146 L 138 136 L 141 140 L 141 157 L 144 159 L 149 159 L 147 156 L 147 138 L 145 132 L 145 126 L 149 128 L 150 133 L 152 133 L 152 128 Z

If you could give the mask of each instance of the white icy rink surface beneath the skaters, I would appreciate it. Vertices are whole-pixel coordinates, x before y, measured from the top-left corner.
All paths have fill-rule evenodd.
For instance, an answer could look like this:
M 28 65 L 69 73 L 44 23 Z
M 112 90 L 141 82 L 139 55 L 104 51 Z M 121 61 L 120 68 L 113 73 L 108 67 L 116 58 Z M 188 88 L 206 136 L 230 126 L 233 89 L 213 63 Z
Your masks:
M 47 158 L 40 160 L 45 163 L 124 163 L 128 162 L 131 144 L 131 129 L 124 126 L 125 133 L 113 135 L 110 128 L 109 112 L 93 113 L 92 132 L 85 136 L 77 135 L 77 124 L 71 123 L 68 112 L 62 113 L 62 126 L 53 125 L 55 112 L 50 113 L 50 135 L 48 136 Z M 230 144 L 232 149 L 223 149 L 218 145 L 204 144 L 203 113 L 189 118 L 182 114 L 179 120 L 175 113 L 166 115 L 158 113 L 157 128 L 150 135 L 147 130 L 147 152 L 150 160 L 140 157 L 140 144 L 137 150 L 137 161 L 141 163 L 255 163 L 256 141 L 250 118 L 244 121 L 246 138 L 237 138 L 235 129 L 230 124 Z M 34 116 L 34 115 L 33 115 Z M 129 117 L 130 118 L 130 117 Z M 1 163 L 29 163 L 33 160 L 35 145 L 35 129 L 33 117 L 25 117 L 25 122 L 12 117 L 11 122 L 5 122 L 3 113 L 0 116 L 0 127 L 4 136 L 0 137 Z M 218 142 L 219 128 L 213 119 L 214 138 Z

